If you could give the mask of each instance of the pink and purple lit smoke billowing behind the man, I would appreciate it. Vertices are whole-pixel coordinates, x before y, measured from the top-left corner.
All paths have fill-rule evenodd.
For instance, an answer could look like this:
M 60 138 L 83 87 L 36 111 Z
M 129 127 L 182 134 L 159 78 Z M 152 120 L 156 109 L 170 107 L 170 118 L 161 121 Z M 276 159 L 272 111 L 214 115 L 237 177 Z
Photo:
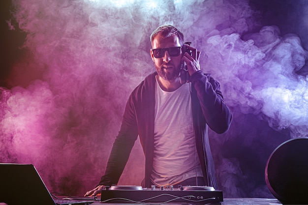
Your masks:
M 277 142 L 308 134 L 307 77 L 298 74 L 307 51 L 276 25 L 252 32 L 258 11 L 248 0 L 13 3 L 27 55 L 12 69 L 13 88 L 1 88 L 0 161 L 33 163 L 52 191 L 82 195 L 99 181 L 126 99 L 154 71 L 149 37 L 166 23 L 201 51 L 202 70 L 220 82 L 233 112 L 228 133 L 211 133 L 225 197 L 269 196 L 264 160 Z M 260 172 L 246 168 L 243 154 Z M 141 155 L 137 142 L 120 183 L 140 183 Z

